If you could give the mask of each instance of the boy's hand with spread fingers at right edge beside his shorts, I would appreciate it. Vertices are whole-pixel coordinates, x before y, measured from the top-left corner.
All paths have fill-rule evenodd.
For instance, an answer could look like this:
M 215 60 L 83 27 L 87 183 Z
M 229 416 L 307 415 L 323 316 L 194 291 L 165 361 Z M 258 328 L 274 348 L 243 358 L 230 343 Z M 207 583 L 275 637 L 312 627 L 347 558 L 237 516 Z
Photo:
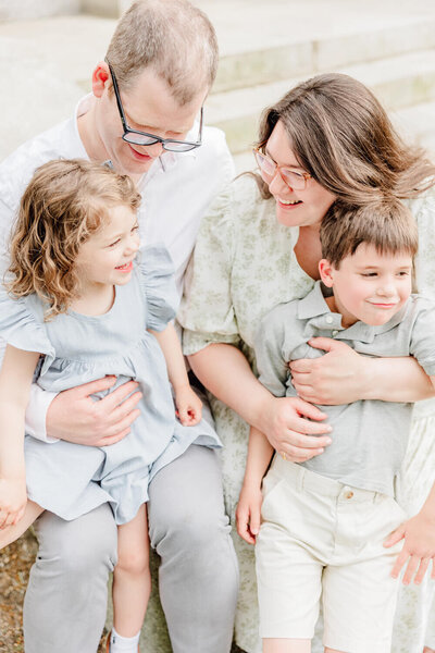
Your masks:
M 435 579 L 435 518 L 423 512 L 418 513 L 400 525 L 385 540 L 384 546 L 393 546 L 403 539 L 403 549 L 397 556 L 391 577 L 397 578 L 408 563 L 403 584 L 411 582 L 415 571 L 414 583 L 420 584 L 432 559 L 432 578 Z

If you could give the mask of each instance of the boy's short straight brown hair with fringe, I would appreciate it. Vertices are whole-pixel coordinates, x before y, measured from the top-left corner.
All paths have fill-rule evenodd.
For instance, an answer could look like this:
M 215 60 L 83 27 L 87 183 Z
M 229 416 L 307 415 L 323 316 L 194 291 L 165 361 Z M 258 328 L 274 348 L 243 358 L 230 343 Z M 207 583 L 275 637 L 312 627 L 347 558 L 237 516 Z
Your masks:
M 380 254 L 409 252 L 414 256 L 419 233 L 411 211 L 395 197 L 355 208 L 335 201 L 320 227 L 322 257 L 338 269 L 347 256 L 365 243 Z

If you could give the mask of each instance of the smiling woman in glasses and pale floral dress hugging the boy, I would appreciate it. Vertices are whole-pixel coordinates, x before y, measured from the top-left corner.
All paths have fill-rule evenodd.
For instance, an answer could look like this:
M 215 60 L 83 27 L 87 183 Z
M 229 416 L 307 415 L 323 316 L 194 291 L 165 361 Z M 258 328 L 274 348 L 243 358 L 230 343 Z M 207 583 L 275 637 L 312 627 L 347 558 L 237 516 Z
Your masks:
M 419 291 L 435 297 L 431 190 L 435 167 L 422 151 L 401 143 L 362 84 L 339 74 L 309 79 L 266 110 L 258 145 L 262 180 L 256 183 L 252 175 L 236 180 L 203 220 L 179 316 L 185 353 L 211 393 L 225 445 L 224 484 L 232 517 L 243 480 L 248 423 L 263 431 L 288 459 L 300 461 L 321 455 L 328 443 L 322 416 L 306 402 L 413 402 L 432 396 L 414 360 L 362 358 L 327 338 L 316 344 L 328 352 L 324 357 L 290 366 L 300 399 L 274 398 L 260 386 L 251 349 L 259 321 L 274 305 L 304 296 L 319 278 L 319 227 L 335 198 L 361 206 L 388 192 L 409 202 L 421 236 L 415 263 Z M 304 420 L 304 415 L 316 421 Z M 432 481 L 426 459 L 435 459 L 434 416 L 435 402 L 418 411 L 401 479 L 402 503 L 413 512 Z M 320 433 L 321 438 L 313 436 Z M 253 552 L 237 535 L 235 544 L 241 580 L 236 637 L 253 653 L 260 650 Z M 410 594 L 408 612 L 419 600 L 412 590 Z M 406 625 L 398 619 L 400 644 L 395 653 L 421 653 L 423 645 L 415 648 L 415 619 L 420 616 L 407 614 Z M 406 629 L 412 630 L 408 640 Z

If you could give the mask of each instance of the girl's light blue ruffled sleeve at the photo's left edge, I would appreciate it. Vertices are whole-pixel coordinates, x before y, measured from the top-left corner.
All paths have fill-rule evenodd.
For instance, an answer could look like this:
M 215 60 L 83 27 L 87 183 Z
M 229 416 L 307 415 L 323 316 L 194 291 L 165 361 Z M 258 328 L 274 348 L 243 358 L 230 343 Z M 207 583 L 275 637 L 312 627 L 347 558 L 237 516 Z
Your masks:
M 44 325 L 42 306 L 34 296 L 13 299 L 4 289 L 0 292 L 0 337 L 17 349 L 45 354 L 44 369 L 54 358 Z

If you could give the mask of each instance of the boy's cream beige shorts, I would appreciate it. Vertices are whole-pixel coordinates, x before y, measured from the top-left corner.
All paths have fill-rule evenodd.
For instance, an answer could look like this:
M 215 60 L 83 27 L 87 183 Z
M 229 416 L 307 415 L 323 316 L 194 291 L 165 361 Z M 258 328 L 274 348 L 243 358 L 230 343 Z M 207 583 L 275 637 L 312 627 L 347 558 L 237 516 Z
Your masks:
M 311 639 L 323 602 L 323 643 L 390 653 L 399 580 L 390 578 L 402 521 L 397 502 L 275 456 L 263 481 L 256 545 L 262 638 Z

